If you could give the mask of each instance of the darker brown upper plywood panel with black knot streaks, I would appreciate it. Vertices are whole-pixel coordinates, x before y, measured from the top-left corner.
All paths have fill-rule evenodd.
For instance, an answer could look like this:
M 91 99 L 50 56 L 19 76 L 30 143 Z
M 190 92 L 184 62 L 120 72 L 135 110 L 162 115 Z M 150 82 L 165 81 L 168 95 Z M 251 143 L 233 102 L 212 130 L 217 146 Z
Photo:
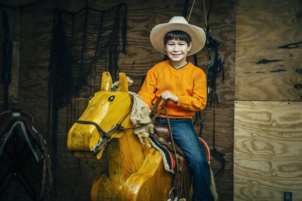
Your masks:
M 239 1 L 236 99 L 302 100 L 301 1 Z

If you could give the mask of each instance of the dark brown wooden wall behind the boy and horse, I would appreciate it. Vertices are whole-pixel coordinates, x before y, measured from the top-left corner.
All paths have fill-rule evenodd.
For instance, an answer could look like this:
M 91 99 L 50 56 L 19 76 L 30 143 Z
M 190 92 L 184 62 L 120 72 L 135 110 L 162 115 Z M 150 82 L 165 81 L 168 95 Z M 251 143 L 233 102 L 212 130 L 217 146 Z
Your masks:
M 192 6 L 189 3 L 189 10 Z M 89 6 L 98 10 L 106 10 L 117 6 L 122 1 L 96 1 L 89 0 Z M 119 68 L 132 80 L 130 90 L 137 92 L 142 76 L 154 64 L 163 60 L 163 55 L 158 53 L 149 42 L 150 30 L 157 24 L 168 22 L 173 16 L 180 16 L 183 10 L 183 0 L 177 1 L 152 1 L 142 0 L 126 2 L 127 11 L 127 55 L 120 54 Z M 49 153 L 52 155 L 51 139 L 47 134 L 48 114 L 48 65 L 50 55 L 51 31 L 53 26 L 54 10 L 61 8 L 69 12 L 77 12 L 84 8 L 85 1 L 40 1 L 39 3 L 14 7 L 17 13 L 10 14 L 10 19 L 18 19 L 20 38 L 13 40 L 20 42 L 20 67 L 18 96 L 10 96 L 10 109 L 21 108 L 30 112 L 34 118 L 34 126 L 47 140 Z M 206 10 L 209 2 L 205 1 Z M 12 9 L 2 6 L 2 9 Z M 18 22 L 18 20 L 17 20 Z M 219 53 L 224 63 L 225 80 L 221 75 L 217 76 L 217 93 L 219 105 L 207 106 L 201 113 L 203 120 L 202 137 L 213 148 L 213 126 L 215 125 L 215 148 L 228 156 L 225 160 L 225 168 L 215 178 L 218 194 L 223 200 L 233 200 L 233 133 L 234 133 L 234 93 L 235 93 L 235 22 L 236 4 L 234 2 L 212 1 L 210 19 L 211 36 L 219 42 Z M 203 2 L 195 1 L 190 16 L 190 23 L 205 27 Z M 214 51 L 212 49 L 212 51 Z M 212 52 L 212 58 L 214 58 Z M 188 58 L 194 63 L 193 56 Z M 197 54 L 198 66 L 207 73 L 208 52 L 204 48 Z M 100 80 L 100 78 L 98 78 Z M 3 104 L 2 90 L 0 104 Z M 79 111 L 83 111 L 85 104 L 81 104 Z M 1 110 L 3 111 L 3 110 Z M 80 112 L 81 113 L 81 112 Z M 215 114 L 215 115 L 214 115 Z M 214 118 L 215 117 L 215 118 Z M 55 172 L 56 184 L 50 194 L 50 200 L 90 200 L 90 190 L 93 180 L 103 171 L 107 170 L 106 158 L 83 158 L 78 160 L 67 150 L 66 140 L 68 127 L 66 127 L 66 109 L 59 111 L 58 125 L 58 158 Z M 215 122 L 215 124 L 214 124 Z M 195 125 L 197 133 L 200 130 L 199 119 Z M 49 125 L 50 127 L 52 125 Z M 221 158 L 215 152 L 212 153 L 211 166 L 214 173 L 221 165 Z M 6 163 L 0 158 L 0 168 Z M 31 160 L 24 169 L 37 166 Z M 7 168 L 7 167 L 6 167 Z M 3 171 L 0 171 L 2 176 Z M 39 171 L 26 171 L 30 178 L 37 178 Z M 1 177 L 0 177 L 1 178 Z M 31 179 L 35 187 L 39 188 L 39 182 Z M 15 191 L 15 187 L 18 191 Z M 16 193 L 15 193 L 16 192 Z M 23 193 L 22 193 L 23 192 Z M 29 197 L 20 187 L 20 183 L 10 186 L 0 200 L 12 200 L 14 198 L 27 200 Z

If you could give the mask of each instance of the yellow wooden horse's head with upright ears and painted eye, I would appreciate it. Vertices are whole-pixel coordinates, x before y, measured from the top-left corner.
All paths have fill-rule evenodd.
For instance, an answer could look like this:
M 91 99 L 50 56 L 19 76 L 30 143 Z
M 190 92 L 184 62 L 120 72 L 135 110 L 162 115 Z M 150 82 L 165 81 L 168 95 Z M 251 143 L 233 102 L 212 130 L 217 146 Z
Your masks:
M 88 107 L 68 132 L 70 151 L 92 151 L 99 159 L 109 140 L 123 135 L 121 128 L 129 123 L 132 103 L 126 74 L 119 73 L 116 91 L 111 85 L 109 72 L 104 72 L 101 90 L 90 97 Z

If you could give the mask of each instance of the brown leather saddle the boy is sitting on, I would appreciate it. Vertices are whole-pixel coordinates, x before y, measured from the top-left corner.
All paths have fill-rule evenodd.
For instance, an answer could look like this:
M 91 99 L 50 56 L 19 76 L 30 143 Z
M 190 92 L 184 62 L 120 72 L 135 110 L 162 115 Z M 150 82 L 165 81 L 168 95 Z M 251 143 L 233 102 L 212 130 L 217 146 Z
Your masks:
M 170 121 L 165 108 L 169 100 L 166 100 L 163 106 L 156 111 L 161 100 L 162 98 L 160 97 L 151 109 L 150 117 L 154 124 L 154 134 L 150 134 L 149 139 L 152 146 L 160 151 L 160 153 L 163 155 L 165 169 L 173 174 L 176 174 L 172 189 L 169 193 L 169 200 L 174 200 L 175 195 L 173 195 L 173 192 L 177 192 L 176 197 L 179 200 L 186 200 L 189 197 L 192 184 L 192 174 L 182 149 L 173 140 Z M 155 121 L 162 110 L 164 110 L 166 114 L 168 126 L 162 125 Z M 209 148 L 203 139 L 199 138 L 199 140 L 209 162 Z

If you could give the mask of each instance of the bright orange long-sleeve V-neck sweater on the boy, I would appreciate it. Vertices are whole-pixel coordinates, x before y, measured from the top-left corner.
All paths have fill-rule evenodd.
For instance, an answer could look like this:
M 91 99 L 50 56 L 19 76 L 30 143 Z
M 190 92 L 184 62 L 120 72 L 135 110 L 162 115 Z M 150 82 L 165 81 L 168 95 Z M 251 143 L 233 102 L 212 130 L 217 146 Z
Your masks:
M 179 69 L 171 66 L 169 60 L 156 64 L 147 72 L 138 95 L 152 108 L 165 90 L 179 98 L 177 104 L 169 101 L 166 106 L 170 118 L 191 119 L 196 111 L 201 111 L 206 106 L 205 73 L 191 62 Z M 159 108 L 162 104 L 163 101 Z M 166 117 L 164 111 L 159 117 Z

